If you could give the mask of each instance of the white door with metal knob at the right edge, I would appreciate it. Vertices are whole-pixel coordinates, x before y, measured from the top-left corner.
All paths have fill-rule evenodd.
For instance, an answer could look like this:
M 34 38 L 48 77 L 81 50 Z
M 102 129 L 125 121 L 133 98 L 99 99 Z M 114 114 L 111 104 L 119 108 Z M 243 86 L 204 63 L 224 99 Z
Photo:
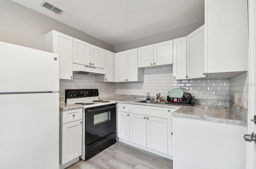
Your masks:
M 256 133 L 256 124 L 251 121 L 256 116 L 256 2 L 248 0 L 249 9 L 249 72 L 248 72 L 248 132 Z M 255 135 L 254 135 L 255 136 Z M 255 141 L 248 142 L 247 169 L 256 168 L 256 144 Z

